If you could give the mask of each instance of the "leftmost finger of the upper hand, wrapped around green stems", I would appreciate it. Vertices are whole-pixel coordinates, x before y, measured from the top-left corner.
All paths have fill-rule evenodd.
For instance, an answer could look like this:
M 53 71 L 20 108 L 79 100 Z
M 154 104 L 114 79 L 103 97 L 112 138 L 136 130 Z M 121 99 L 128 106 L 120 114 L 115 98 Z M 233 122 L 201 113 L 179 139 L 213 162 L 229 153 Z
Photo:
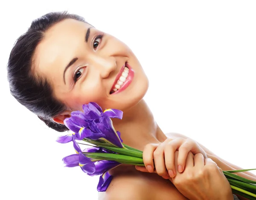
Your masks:
M 154 172 L 153 153 L 157 149 L 158 144 L 147 144 L 143 149 L 143 162 L 148 172 Z

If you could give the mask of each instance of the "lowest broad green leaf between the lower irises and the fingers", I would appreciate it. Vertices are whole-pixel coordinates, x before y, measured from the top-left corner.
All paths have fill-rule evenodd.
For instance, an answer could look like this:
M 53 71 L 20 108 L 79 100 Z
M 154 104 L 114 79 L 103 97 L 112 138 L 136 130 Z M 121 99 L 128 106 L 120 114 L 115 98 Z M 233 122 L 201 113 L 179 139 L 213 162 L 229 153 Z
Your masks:
M 136 158 L 128 155 L 120 155 L 113 153 L 91 153 L 91 152 L 83 152 L 88 158 L 102 159 L 108 161 L 117 161 L 120 162 L 128 162 L 128 163 L 143 163 L 142 158 Z

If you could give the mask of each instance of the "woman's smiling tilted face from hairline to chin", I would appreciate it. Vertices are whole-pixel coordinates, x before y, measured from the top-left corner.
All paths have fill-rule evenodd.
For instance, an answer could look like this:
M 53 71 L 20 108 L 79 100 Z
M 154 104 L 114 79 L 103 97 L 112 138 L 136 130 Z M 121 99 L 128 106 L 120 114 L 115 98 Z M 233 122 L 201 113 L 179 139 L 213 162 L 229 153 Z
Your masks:
M 69 111 L 93 101 L 102 109 L 125 112 L 148 89 L 140 62 L 127 45 L 77 20 L 49 28 L 34 58 L 35 73 L 47 77 Z

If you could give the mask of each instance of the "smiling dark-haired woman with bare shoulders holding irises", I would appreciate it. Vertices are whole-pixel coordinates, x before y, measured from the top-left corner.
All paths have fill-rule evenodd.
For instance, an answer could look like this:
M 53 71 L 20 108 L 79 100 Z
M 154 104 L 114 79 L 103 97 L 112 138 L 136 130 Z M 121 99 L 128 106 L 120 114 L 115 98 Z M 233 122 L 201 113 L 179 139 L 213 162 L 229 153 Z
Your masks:
M 143 100 L 148 79 L 136 56 L 83 18 L 49 13 L 33 21 L 12 49 L 8 79 L 17 101 L 57 131 L 67 130 L 64 119 L 90 101 L 124 112 L 113 125 L 125 144 L 144 151 L 146 169 L 112 170 L 111 185 L 100 198 L 233 199 L 218 167 L 239 168 L 183 135 L 167 138 Z M 153 158 L 157 174 L 143 173 L 153 172 Z M 256 179 L 249 172 L 240 175 Z

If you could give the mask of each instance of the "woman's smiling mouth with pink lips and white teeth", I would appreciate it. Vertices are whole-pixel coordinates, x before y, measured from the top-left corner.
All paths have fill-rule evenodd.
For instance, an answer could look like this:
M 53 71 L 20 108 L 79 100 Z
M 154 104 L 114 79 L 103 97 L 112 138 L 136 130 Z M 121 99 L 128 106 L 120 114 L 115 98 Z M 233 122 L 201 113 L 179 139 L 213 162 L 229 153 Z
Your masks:
M 125 65 L 122 66 L 120 72 L 116 76 L 115 82 L 111 88 L 110 94 L 118 93 L 122 90 L 125 90 L 128 85 L 130 85 L 133 79 L 133 70 L 131 67 L 125 62 Z

